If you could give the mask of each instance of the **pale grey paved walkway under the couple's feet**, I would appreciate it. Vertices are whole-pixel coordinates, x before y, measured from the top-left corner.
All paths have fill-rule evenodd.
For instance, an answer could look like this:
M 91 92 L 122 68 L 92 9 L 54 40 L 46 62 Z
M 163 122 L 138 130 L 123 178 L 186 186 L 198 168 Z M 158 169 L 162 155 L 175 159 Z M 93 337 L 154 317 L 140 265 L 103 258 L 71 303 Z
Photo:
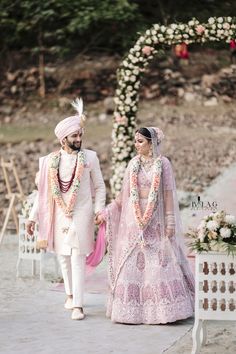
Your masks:
M 182 337 L 193 319 L 163 326 L 114 324 L 105 317 L 105 262 L 86 284 L 84 321 L 63 308 L 62 284 L 30 278 L 30 261 L 16 278 L 17 237 L 6 235 L 0 261 L 0 353 L 161 353 Z M 46 270 L 54 270 L 52 259 Z

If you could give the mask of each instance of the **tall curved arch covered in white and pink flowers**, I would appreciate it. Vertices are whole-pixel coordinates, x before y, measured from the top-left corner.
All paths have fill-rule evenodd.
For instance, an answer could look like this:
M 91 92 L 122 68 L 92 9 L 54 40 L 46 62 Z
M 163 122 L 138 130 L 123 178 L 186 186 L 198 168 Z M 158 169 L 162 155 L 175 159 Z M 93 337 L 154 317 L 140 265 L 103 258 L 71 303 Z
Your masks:
M 197 19 L 188 23 L 163 26 L 154 24 L 137 40 L 117 70 L 115 112 L 112 130 L 111 191 L 121 189 L 125 168 L 134 156 L 134 132 L 139 101 L 140 79 L 145 68 L 163 45 L 205 43 L 236 38 L 236 17 L 211 17 L 201 24 Z

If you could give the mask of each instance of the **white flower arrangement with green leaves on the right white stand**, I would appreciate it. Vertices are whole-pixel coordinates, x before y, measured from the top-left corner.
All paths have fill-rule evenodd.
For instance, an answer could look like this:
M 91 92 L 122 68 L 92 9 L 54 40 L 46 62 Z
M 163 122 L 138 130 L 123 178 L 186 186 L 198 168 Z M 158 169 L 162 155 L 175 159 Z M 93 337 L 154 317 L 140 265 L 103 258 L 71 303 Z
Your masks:
M 217 251 L 236 255 L 236 217 L 225 211 L 205 216 L 187 236 L 191 239 L 189 247 L 198 253 Z

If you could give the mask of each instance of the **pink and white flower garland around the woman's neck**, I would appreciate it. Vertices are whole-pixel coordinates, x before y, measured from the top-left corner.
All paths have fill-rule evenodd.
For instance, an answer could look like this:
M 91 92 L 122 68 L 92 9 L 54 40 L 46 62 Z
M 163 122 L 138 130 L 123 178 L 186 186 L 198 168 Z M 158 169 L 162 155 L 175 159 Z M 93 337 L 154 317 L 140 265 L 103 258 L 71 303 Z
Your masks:
M 157 200 L 157 193 L 159 190 L 161 171 L 162 171 L 161 156 L 159 156 L 154 161 L 153 179 L 152 179 L 152 184 L 148 195 L 148 203 L 143 216 L 141 214 L 141 209 L 139 204 L 139 192 L 138 192 L 138 171 L 140 169 L 140 165 L 141 165 L 140 156 L 136 156 L 132 161 L 131 171 L 130 171 L 130 195 L 134 207 L 136 222 L 139 228 L 141 230 L 144 230 L 152 217 L 155 203 Z

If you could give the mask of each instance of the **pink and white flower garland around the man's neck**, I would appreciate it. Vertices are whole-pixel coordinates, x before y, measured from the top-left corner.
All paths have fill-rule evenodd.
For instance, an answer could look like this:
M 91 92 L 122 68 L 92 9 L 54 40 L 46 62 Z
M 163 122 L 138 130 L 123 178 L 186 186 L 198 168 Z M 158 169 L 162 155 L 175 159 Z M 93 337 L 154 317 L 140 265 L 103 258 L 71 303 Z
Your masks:
M 49 159 L 49 177 L 50 177 L 51 191 L 52 191 L 53 199 L 55 200 L 56 204 L 64 211 L 66 216 L 70 217 L 72 215 L 75 202 L 76 202 L 76 197 L 80 189 L 81 177 L 83 175 L 84 165 L 85 165 L 85 156 L 83 151 L 80 151 L 78 153 L 78 162 L 76 166 L 75 177 L 71 186 L 71 195 L 68 204 L 66 204 L 62 198 L 59 181 L 58 181 L 58 169 L 59 169 L 60 157 L 61 157 L 61 153 L 60 151 L 57 151 L 52 153 Z

